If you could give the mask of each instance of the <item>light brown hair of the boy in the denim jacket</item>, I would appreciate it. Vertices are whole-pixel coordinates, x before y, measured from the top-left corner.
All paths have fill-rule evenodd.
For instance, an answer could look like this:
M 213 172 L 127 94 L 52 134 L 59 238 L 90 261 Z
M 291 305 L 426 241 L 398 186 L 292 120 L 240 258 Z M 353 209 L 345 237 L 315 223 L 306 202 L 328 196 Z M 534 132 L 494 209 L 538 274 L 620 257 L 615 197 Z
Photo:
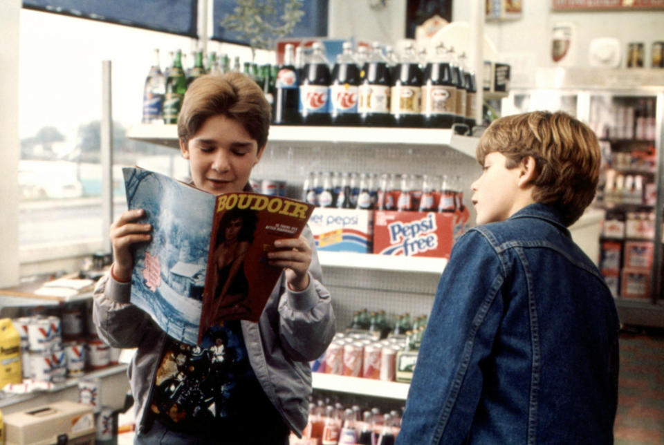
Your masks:
M 477 146 L 483 165 L 488 153 L 506 158 L 508 169 L 528 156 L 535 159 L 533 199 L 560 211 L 572 225 L 592 202 L 600 173 L 600 147 L 595 133 L 563 112 L 533 111 L 501 117 L 486 129 Z

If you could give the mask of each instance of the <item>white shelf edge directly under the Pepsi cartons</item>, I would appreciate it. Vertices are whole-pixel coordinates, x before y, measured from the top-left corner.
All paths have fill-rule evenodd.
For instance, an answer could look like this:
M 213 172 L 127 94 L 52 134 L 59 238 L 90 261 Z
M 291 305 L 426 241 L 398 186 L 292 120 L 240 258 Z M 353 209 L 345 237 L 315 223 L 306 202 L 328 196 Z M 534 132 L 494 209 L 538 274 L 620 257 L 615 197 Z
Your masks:
M 318 258 L 321 265 L 325 267 L 352 267 L 353 269 L 422 272 L 437 275 L 442 274 L 443 269 L 448 264 L 447 258 L 324 252 L 320 250 L 318 251 Z

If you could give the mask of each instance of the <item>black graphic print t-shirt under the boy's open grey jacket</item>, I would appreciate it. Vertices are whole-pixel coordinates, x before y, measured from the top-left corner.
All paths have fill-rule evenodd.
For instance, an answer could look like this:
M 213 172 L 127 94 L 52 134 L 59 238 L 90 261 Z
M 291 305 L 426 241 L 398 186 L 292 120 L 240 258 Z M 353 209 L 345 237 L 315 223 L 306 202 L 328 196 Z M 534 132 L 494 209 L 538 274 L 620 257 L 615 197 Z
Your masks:
M 187 432 L 208 430 L 213 419 L 246 422 L 265 410 L 279 418 L 250 366 L 239 321 L 213 326 L 201 345 L 169 337 L 150 408 L 173 430 Z

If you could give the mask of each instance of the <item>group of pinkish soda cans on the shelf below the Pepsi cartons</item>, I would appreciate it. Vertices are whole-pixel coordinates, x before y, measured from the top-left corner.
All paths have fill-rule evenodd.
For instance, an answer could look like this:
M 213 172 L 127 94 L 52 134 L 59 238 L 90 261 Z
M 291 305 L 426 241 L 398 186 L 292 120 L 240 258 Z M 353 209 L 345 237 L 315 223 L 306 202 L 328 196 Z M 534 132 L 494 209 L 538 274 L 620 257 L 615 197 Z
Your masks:
M 394 381 L 396 353 L 404 348 L 403 338 L 378 340 L 365 334 L 335 334 L 323 357 L 312 370 L 326 374 Z

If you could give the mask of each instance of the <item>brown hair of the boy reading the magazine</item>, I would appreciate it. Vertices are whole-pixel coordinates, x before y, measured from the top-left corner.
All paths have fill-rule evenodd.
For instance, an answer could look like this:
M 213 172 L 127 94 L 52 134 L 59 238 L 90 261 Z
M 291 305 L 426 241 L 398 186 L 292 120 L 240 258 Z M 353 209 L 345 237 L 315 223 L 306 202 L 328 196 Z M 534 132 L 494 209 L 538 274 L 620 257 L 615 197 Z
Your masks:
M 203 75 L 190 84 L 178 115 L 178 138 L 186 145 L 215 115 L 237 120 L 258 142 L 259 151 L 268 140 L 270 104 L 256 82 L 242 73 Z

